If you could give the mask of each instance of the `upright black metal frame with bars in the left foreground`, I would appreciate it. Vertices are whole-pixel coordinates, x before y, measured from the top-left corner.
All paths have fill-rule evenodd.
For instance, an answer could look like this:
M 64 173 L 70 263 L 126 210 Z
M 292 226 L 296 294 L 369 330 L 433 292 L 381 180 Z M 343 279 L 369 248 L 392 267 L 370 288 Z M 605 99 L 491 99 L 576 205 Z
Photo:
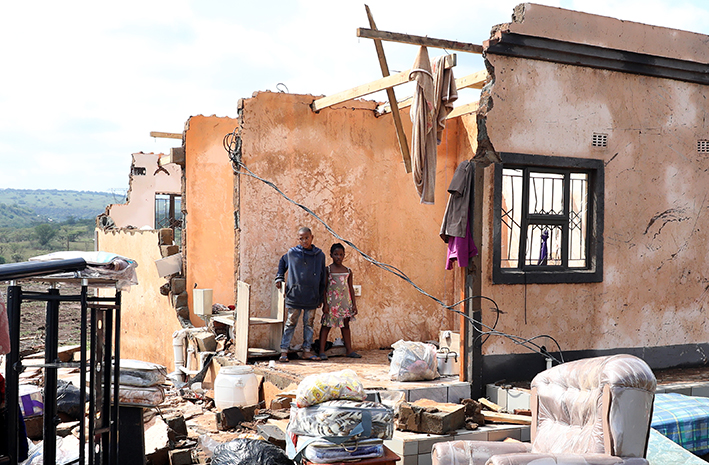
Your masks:
M 89 415 L 88 438 L 90 438 L 90 453 L 86 457 L 87 435 L 86 416 L 80 420 L 79 463 L 81 465 L 114 465 L 118 463 L 118 383 L 111 385 L 111 375 L 119 379 L 120 372 L 120 322 L 121 322 L 121 291 L 116 289 L 113 297 L 89 297 L 89 280 L 81 279 L 81 292 L 78 295 L 61 295 L 56 288 L 56 282 L 77 281 L 77 279 L 56 279 L 49 284 L 47 292 L 24 292 L 16 279 L 44 276 L 60 271 L 75 271 L 86 267 L 82 259 L 58 260 L 53 268 L 46 264 L 38 267 L 36 263 L 26 262 L 13 264 L 12 269 L 4 269 L 0 265 L 0 279 L 10 280 L 8 288 L 7 310 L 10 323 L 11 352 L 6 360 L 6 404 L 7 416 L 4 425 L 8 432 L 9 462 L 16 465 L 19 437 L 19 375 L 24 370 L 19 357 L 20 346 L 20 315 L 22 302 L 47 302 L 45 360 L 44 367 L 44 463 L 56 462 L 56 425 L 57 417 L 57 370 L 65 367 L 79 367 L 80 401 L 86 405 L 86 377 L 89 377 Z M 82 266 L 83 263 L 83 266 Z M 24 266 L 17 266 L 24 265 Z M 102 284 L 114 281 L 102 280 Z M 59 345 L 59 311 L 62 302 L 80 302 L 81 304 L 81 361 L 60 362 L 57 357 Z M 89 315 L 90 310 L 90 315 Z M 87 333 L 87 325 L 91 325 L 91 334 Z M 90 341 L 89 341 L 90 339 Z M 89 345 L 90 344 L 90 345 Z M 87 350 L 90 355 L 87 357 Z M 111 369 L 112 367 L 112 369 Z M 113 392 L 112 392 L 113 391 Z M 88 459 L 88 462 L 87 462 Z

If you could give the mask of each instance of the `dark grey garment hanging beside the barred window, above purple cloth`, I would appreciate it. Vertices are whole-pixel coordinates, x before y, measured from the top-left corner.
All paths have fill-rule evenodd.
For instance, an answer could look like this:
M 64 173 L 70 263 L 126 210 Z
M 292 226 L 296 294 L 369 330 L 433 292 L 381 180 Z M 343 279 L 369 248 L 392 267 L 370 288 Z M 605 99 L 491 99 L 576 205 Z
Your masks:
M 441 239 L 448 242 L 450 237 L 465 237 L 473 197 L 475 164 L 465 160 L 458 165 L 448 186 L 448 203 L 441 223 Z M 470 223 L 473 223 L 471 217 Z

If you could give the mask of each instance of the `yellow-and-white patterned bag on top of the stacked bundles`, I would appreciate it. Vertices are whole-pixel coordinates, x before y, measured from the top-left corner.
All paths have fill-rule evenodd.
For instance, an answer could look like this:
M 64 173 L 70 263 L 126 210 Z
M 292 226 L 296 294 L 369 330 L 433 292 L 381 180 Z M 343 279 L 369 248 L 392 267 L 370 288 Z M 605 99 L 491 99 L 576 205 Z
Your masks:
M 310 407 L 328 400 L 362 401 L 367 398 L 364 386 L 352 370 L 321 373 L 303 378 L 296 391 L 295 404 Z

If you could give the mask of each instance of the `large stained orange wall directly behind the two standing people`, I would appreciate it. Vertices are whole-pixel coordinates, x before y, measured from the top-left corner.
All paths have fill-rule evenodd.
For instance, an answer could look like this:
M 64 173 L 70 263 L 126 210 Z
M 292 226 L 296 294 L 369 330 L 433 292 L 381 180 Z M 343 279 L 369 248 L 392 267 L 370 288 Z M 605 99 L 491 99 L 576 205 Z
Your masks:
M 446 245 L 438 235 L 446 189 L 459 161 L 454 127 L 438 149 L 436 204 L 421 205 L 390 116 L 376 118 L 375 103 L 363 101 L 314 113 L 313 99 L 261 92 L 245 100 L 244 163 L 365 253 L 397 267 L 426 292 L 446 302 L 457 300 L 454 273 L 444 269 Z M 408 115 L 403 116 L 410 134 Z M 245 176 L 240 183 L 239 276 L 251 284 L 252 316 L 266 316 L 278 260 L 296 245 L 298 227 L 312 228 L 314 244 L 326 252 L 328 263 L 330 245 L 337 240 L 269 186 Z M 345 264 L 362 286 L 352 325 L 355 347 L 437 340 L 440 329 L 457 324 L 457 317 L 349 247 Z M 331 338 L 339 337 L 333 332 Z M 252 331 L 251 345 L 259 346 L 261 337 Z

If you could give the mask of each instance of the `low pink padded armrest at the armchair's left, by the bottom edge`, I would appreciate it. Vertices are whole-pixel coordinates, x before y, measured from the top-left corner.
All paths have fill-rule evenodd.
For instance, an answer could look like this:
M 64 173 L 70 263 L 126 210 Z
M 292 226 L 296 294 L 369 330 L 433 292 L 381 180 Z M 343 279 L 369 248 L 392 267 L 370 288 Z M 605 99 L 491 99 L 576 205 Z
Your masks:
M 485 465 L 493 455 L 530 450 L 532 445 L 524 442 L 448 441 L 433 445 L 431 460 L 433 465 Z

